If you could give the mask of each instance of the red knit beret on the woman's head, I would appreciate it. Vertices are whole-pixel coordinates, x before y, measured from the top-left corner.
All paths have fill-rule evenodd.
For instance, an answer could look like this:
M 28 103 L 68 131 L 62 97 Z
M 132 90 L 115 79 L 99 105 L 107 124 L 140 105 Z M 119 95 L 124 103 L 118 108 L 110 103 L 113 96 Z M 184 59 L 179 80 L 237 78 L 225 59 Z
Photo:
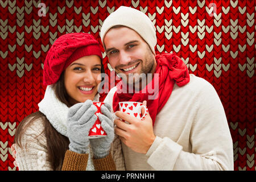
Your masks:
M 43 69 L 43 84 L 55 84 L 61 73 L 75 60 L 83 56 L 101 58 L 100 43 L 90 34 L 72 33 L 60 36 L 49 49 Z

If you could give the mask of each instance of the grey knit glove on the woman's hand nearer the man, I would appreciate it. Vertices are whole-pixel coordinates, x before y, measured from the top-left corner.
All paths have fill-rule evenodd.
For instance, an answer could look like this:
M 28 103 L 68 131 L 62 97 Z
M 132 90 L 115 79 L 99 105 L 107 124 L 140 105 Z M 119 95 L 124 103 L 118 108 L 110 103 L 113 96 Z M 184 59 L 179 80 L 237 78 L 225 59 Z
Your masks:
M 114 122 L 110 110 L 110 105 L 105 103 L 101 106 L 102 114 L 98 114 L 101 127 L 106 131 L 107 136 L 90 139 L 90 146 L 92 147 L 95 159 L 102 159 L 108 156 L 111 144 L 114 140 Z

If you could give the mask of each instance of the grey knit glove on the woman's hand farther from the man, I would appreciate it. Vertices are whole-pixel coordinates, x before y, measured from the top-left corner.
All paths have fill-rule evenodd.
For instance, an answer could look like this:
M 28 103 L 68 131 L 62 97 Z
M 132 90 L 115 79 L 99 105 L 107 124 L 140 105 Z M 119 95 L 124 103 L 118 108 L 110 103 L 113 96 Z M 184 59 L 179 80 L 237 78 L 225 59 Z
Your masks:
M 91 100 L 75 104 L 68 110 L 67 135 L 69 138 L 69 150 L 79 154 L 89 152 L 89 130 L 96 122 L 97 116 L 94 114 L 97 107 Z

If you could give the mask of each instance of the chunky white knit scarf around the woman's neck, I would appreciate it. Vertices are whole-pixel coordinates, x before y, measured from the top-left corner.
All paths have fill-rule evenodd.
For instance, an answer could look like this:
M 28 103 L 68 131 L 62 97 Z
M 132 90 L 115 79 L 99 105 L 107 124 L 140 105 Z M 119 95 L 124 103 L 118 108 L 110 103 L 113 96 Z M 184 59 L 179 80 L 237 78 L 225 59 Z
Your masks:
M 99 101 L 99 94 L 94 97 L 94 102 Z M 67 135 L 68 106 L 57 99 L 51 85 L 46 88 L 43 100 L 38 104 L 39 111 L 46 115 L 51 125 L 62 135 Z

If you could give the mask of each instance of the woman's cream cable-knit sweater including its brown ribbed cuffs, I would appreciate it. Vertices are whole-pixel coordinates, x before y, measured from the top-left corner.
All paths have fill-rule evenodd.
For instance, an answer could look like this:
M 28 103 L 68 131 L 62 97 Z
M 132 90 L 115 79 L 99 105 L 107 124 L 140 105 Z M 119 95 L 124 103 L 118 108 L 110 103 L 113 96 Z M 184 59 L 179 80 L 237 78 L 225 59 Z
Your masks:
M 22 135 L 21 144 L 26 147 L 15 146 L 16 162 L 19 171 L 52 171 L 48 160 L 46 135 L 44 125 L 39 118 L 27 128 Z M 89 146 L 90 147 L 90 146 Z M 110 154 L 104 159 L 93 159 L 92 150 L 89 154 L 77 154 L 67 150 L 63 163 L 63 170 L 125 170 L 121 143 L 118 137 L 114 138 Z

